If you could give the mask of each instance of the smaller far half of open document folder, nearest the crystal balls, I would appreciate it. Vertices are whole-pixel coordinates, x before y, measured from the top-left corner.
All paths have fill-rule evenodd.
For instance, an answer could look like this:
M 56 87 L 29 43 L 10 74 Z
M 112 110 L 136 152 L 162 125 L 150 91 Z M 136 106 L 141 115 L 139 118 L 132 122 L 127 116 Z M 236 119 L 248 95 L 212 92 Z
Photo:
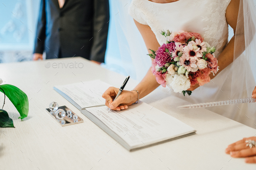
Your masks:
M 69 85 L 57 85 L 53 89 L 79 110 L 82 110 L 87 107 L 105 105 L 105 99 L 102 98 L 102 94 L 110 86 L 101 80 L 92 80 Z

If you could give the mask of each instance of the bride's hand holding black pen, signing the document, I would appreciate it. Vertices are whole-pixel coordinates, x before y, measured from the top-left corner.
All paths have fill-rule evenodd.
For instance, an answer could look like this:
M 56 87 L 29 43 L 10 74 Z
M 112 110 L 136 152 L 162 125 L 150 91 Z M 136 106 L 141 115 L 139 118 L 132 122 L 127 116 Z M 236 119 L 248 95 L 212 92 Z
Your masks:
M 110 87 L 103 94 L 102 98 L 106 99 L 105 105 L 112 110 L 124 110 L 128 106 L 135 103 L 138 99 L 138 94 L 136 91 L 123 90 L 119 97 L 115 99 L 118 94 L 119 88 Z

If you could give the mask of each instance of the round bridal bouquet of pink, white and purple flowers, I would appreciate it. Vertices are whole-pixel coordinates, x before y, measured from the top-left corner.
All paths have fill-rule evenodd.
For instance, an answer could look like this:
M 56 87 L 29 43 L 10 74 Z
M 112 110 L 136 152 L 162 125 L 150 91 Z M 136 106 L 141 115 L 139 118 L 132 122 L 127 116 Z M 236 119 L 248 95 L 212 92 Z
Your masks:
M 176 93 L 185 93 L 191 86 L 210 82 L 210 73 L 218 71 L 215 47 L 203 41 L 196 32 L 161 31 L 166 37 L 166 44 L 148 54 L 153 58 L 151 71 L 163 87 L 166 85 Z

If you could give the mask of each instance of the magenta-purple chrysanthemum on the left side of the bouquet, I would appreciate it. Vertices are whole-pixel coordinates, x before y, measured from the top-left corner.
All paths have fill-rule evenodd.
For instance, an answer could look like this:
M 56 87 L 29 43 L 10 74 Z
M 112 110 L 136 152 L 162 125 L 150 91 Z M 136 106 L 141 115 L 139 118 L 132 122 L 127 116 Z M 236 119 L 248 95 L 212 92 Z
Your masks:
M 175 50 L 175 43 L 171 42 L 170 44 L 163 44 L 155 52 L 156 57 L 154 60 L 158 66 L 164 66 L 164 64 L 171 62 L 171 56 L 168 52 L 166 52 L 166 49 L 168 49 L 169 53 L 171 54 L 172 51 Z

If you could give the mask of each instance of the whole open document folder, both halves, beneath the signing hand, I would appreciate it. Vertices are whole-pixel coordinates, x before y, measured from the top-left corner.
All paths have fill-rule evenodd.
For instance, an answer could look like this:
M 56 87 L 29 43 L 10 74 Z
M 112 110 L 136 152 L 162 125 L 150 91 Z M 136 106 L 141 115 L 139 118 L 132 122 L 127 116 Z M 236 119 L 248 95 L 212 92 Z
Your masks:
M 99 85 L 101 87 L 90 87 L 94 84 L 93 81 L 83 83 L 84 85 L 81 87 L 78 85 L 79 83 L 66 85 L 65 91 L 63 86 L 62 90 L 59 89 L 59 86 L 56 86 L 55 89 L 58 88 L 56 91 L 60 91 L 60 94 L 72 104 L 79 106 L 78 108 L 86 117 L 129 151 L 167 142 L 196 132 L 195 129 L 180 120 L 143 102 L 129 106 L 127 110 L 111 110 L 109 113 L 108 107 L 102 106 L 100 102 L 98 102 L 98 106 L 92 107 L 93 104 L 89 104 L 91 98 L 92 100 L 98 98 L 99 91 L 106 90 L 109 85 L 106 87 L 107 84 L 101 82 Z M 97 91 L 96 88 L 99 88 L 98 92 L 92 94 L 90 90 L 93 88 L 95 91 Z M 79 101 L 81 98 L 83 104 Z M 103 99 L 101 100 L 103 101 Z

